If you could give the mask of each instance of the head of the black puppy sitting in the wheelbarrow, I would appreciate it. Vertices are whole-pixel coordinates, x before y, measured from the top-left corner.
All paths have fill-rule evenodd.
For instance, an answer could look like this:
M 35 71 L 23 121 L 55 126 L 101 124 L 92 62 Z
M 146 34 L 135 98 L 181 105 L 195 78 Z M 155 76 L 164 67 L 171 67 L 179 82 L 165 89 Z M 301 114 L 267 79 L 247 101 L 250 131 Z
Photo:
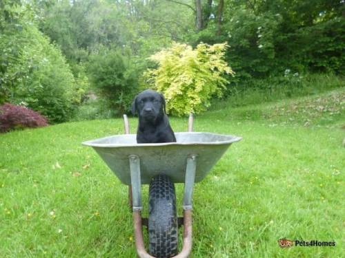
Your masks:
M 163 94 L 146 89 L 138 94 L 132 103 L 132 114 L 147 122 L 154 122 L 166 112 L 166 100 Z

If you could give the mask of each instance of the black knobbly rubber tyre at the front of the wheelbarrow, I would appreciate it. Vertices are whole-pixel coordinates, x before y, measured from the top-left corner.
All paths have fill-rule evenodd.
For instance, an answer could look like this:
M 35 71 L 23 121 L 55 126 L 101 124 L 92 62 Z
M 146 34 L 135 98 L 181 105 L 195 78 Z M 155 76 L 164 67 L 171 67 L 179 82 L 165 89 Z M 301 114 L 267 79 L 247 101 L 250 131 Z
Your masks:
M 177 211 L 175 186 L 166 175 L 150 182 L 148 197 L 148 239 L 150 255 L 177 255 Z

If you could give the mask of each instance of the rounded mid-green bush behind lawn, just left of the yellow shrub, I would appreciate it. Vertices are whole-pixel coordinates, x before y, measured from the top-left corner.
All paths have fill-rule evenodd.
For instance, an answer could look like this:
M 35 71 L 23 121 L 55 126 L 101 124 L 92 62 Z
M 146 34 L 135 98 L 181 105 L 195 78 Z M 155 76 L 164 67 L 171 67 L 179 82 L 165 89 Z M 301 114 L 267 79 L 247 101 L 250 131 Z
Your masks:
M 92 87 L 112 109 L 124 113 L 137 93 L 138 72 L 131 59 L 118 50 L 102 48 L 90 56 L 88 74 Z

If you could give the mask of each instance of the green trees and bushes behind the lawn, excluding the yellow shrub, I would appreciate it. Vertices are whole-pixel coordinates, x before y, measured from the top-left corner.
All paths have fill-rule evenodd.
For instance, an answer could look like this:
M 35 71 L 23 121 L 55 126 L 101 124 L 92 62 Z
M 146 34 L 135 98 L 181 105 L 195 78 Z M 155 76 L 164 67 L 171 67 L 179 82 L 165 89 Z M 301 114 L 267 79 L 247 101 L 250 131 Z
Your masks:
M 235 77 L 222 76 L 224 97 L 241 85 L 271 91 L 262 80 L 289 79 L 294 87 L 308 74 L 342 78 L 344 6 L 339 0 L 3 0 L 0 104 L 24 103 L 50 122 L 117 116 L 150 87 L 143 74 L 157 63 L 148 58 L 174 42 L 228 43 L 224 61 Z M 286 95 L 293 91 L 285 88 Z

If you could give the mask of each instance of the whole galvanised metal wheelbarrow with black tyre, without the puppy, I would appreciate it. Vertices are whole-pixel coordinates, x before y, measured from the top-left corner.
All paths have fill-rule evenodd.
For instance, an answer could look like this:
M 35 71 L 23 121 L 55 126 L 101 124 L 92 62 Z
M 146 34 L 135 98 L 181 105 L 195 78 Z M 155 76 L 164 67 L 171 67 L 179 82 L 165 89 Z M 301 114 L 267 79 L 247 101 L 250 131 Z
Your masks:
M 135 246 L 141 258 L 188 257 L 192 250 L 192 197 L 194 184 L 203 180 L 233 142 L 241 137 L 193 132 L 193 116 L 188 132 L 175 133 L 177 142 L 137 144 L 129 133 L 83 142 L 101 156 L 119 180 L 128 185 Z M 184 216 L 177 217 L 175 183 L 184 183 Z M 148 219 L 141 217 L 141 184 L 149 186 Z M 148 226 L 146 252 L 142 226 Z M 178 226 L 184 226 L 183 247 L 177 254 Z M 150 253 L 150 254 L 149 254 Z

